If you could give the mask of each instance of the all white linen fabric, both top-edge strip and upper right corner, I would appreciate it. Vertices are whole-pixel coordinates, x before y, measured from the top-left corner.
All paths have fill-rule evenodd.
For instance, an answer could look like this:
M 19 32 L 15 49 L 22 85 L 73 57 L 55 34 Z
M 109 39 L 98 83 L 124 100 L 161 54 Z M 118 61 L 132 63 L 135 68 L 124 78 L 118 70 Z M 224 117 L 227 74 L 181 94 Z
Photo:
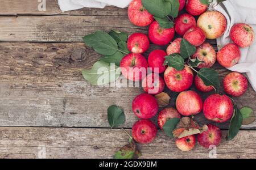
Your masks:
M 77 10 L 82 7 L 104 8 L 113 5 L 125 8 L 131 0 L 58 0 L 62 11 Z M 218 48 L 232 42 L 229 32 L 235 23 L 247 23 L 256 31 L 256 1 L 255 0 L 227 0 L 220 5 L 215 5 L 216 0 L 210 8 L 220 11 L 228 21 L 228 28 L 224 35 L 217 39 Z M 256 41 L 248 48 L 241 48 L 241 59 L 239 63 L 228 68 L 232 71 L 246 73 L 251 86 L 256 91 Z

